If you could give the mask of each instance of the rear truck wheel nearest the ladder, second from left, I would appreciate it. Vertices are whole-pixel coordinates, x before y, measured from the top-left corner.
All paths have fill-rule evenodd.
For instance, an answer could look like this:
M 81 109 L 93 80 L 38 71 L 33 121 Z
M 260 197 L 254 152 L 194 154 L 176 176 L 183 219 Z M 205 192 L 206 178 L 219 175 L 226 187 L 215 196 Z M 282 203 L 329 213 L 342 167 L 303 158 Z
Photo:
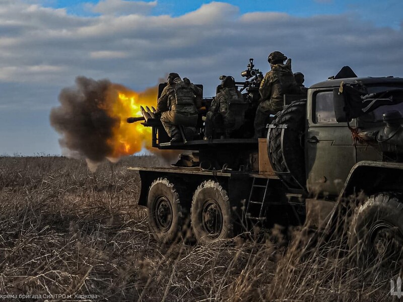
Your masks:
M 218 182 L 208 180 L 197 187 L 190 216 L 194 237 L 201 245 L 233 237 L 228 194 Z

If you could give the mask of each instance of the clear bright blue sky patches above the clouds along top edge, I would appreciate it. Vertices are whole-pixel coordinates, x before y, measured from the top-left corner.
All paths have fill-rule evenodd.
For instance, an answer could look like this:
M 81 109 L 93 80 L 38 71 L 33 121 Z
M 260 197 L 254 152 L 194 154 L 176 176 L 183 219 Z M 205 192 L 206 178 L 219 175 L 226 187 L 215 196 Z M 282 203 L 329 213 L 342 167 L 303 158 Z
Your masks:
M 151 1 L 146 0 L 145 2 Z M 158 7 L 152 11 L 152 14 L 180 16 L 211 2 L 206 0 L 158 0 Z M 400 26 L 403 14 L 403 1 L 401 0 L 224 0 L 221 2 L 237 6 L 242 14 L 282 12 L 299 17 L 320 14 L 353 14 L 357 18 L 377 26 L 393 28 Z M 53 8 L 66 8 L 72 14 L 92 16 L 94 14 L 85 9 L 85 4 L 96 4 L 98 0 L 47 0 L 44 3 Z

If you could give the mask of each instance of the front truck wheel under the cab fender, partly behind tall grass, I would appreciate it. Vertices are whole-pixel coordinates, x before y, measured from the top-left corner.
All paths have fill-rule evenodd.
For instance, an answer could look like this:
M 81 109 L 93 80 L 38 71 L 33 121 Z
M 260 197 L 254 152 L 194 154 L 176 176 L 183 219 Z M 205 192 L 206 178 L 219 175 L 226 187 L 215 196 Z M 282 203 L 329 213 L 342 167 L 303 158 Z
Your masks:
M 360 266 L 399 270 L 403 264 L 403 195 L 372 195 L 353 216 L 348 243 Z

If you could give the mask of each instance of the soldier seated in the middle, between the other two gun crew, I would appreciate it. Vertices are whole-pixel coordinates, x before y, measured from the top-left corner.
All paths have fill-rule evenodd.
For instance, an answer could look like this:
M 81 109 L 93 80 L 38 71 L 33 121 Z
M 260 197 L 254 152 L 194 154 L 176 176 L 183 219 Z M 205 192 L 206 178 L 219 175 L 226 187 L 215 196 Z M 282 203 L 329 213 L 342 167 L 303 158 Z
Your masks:
M 245 121 L 245 112 L 240 108 L 230 110 L 231 103 L 245 103 L 241 93 L 235 86 L 233 77 L 223 75 L 220 90 L 213 100 L 210 110 L 206 115 L 206 128 L 204 139 L 213 136 L 214 129 L 224 127 L 225 136 L 239 129 Z M 238 112 L 242 111 L 242 112 Z

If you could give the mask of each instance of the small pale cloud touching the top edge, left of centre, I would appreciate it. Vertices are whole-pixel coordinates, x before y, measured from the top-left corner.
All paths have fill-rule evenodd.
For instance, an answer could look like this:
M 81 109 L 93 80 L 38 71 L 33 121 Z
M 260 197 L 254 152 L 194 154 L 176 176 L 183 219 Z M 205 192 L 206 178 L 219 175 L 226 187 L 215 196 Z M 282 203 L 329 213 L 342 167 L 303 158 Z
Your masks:
M 157 1 L 101 0 L 87 4 L 87 9 L 102 15 L 148 15 L 157 6 Z

